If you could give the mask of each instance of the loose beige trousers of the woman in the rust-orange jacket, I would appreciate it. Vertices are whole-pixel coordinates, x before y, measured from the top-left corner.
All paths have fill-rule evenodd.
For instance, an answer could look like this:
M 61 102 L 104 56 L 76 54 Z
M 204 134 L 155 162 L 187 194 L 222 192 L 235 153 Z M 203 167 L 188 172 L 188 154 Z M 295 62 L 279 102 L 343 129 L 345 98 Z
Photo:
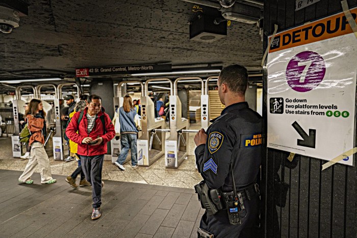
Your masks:
M 18 178 L 22 182 L 31 180 L 31 176 L 36 170 L 36 165 L 40 169 L 41 183 L 46 183 L 52 179 L 51 168 L 49 166 L 48 155 L 40 142 L 33 142 L 31 144 L 30 159 L 25 170 Z

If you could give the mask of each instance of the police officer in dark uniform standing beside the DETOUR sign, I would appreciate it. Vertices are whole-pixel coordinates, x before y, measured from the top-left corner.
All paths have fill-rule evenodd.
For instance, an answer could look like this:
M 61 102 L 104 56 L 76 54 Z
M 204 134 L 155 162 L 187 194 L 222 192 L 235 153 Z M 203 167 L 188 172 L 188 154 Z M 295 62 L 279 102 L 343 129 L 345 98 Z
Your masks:
M 203 214 L 200 228 L 214 237 L 259 236 L 260 197 L 256 181 L 262 157 L 262 117 L 245 102 L 247 84 L 245 67 L 225 67 L 217 81 L 219 99 L 225 108 L 211 121 L 207 132 L 201 129 L 194 137 L 197 168 L 208 187 L 232 192 L 234 177 L 236 194 L 243 201 L 244 210 L 240 208 L 237 225 L 228 219 L 229 208 L 211 216 L 207 211 Z

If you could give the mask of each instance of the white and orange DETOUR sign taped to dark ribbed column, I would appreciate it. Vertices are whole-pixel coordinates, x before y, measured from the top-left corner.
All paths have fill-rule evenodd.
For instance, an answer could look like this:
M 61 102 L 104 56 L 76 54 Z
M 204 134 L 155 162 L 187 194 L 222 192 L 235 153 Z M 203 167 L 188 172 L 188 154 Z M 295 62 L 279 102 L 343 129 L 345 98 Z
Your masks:
M 354 20 L 357 8 L 350 10 Z M 357 39 L 343 13 L 275 35 L 267 146 L 331 160 L 354 148 Z M 352 156 L 340 163 L 353 165 Z

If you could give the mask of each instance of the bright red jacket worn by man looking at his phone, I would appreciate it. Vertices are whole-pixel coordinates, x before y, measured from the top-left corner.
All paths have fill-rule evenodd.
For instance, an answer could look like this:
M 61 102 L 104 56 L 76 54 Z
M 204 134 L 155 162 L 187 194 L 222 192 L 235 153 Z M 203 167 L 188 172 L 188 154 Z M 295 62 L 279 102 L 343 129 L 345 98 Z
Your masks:
M 94 127 L 90 133 L 87 130 L 87 110 L 88 108 L 84 109 L 84 114 L 80 125 L 78 126 L 78 118 L 81 112 L 76 112 L 70 123 L 66 128 L 66 135 L 69 139 L 73 142 L 78 144 L 78 151 L 77 154 L 84 155 L 84 156 L 95 156 L 95 155 L 104 155 L 107 154 L 107 142 L 114 138 L 115 130 L 110 120 L 110 117 L 104 111 L 100 111 L 97 114 L 97 118 L 95 120 Z M 100 116 L 104 114 L 104 121 L 106 125 L 107 133 L 104 134 L 103 123 L 100 121 Z M 78 131 L 78 134 L 77 134 Z M 87 144 L 82 144 L 82 141 L 85 137 L 91 137 L 93 140 L 101 137 L 103 138 L 103 142 L 99 145 L 90 146 Z

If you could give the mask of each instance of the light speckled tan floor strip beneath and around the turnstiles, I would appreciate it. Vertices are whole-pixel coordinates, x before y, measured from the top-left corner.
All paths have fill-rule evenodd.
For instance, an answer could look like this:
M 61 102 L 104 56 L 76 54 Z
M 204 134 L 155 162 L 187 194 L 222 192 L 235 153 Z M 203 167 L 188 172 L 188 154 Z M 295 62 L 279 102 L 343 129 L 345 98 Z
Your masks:
M 198 129 L 199 125 L 193 125 L 190 129 Z M 189 156 L 180 165 L 178 169 L 165 168 L 164 156 L 152 163 L 149 167 L 141 167 L 133 169 L 131 163 L 124 164 L 125 171 L 120 171 L 111 163 L 111 161 L 104 161 L 103 179 L 137 182 L 153 185 L 163 185 L 171 187 L 193 188 L 193 186 L 202 180 L 200 174 L 195 170 L 195 156 L 194 156 L 194 133 L 190 134 L 189 138 Z M 0 169 L 23 171 L 28 160 L 15 159 L 12 157 L 11 151 L 11 137 L 0 137 Z M 70 175 L 75 168 L 77 162 L 62 162 L 55 161 L 50 157 L 50 165 L 53 177 L 56 175 Z M 39 172 L 38 170 L 36 172 Z

